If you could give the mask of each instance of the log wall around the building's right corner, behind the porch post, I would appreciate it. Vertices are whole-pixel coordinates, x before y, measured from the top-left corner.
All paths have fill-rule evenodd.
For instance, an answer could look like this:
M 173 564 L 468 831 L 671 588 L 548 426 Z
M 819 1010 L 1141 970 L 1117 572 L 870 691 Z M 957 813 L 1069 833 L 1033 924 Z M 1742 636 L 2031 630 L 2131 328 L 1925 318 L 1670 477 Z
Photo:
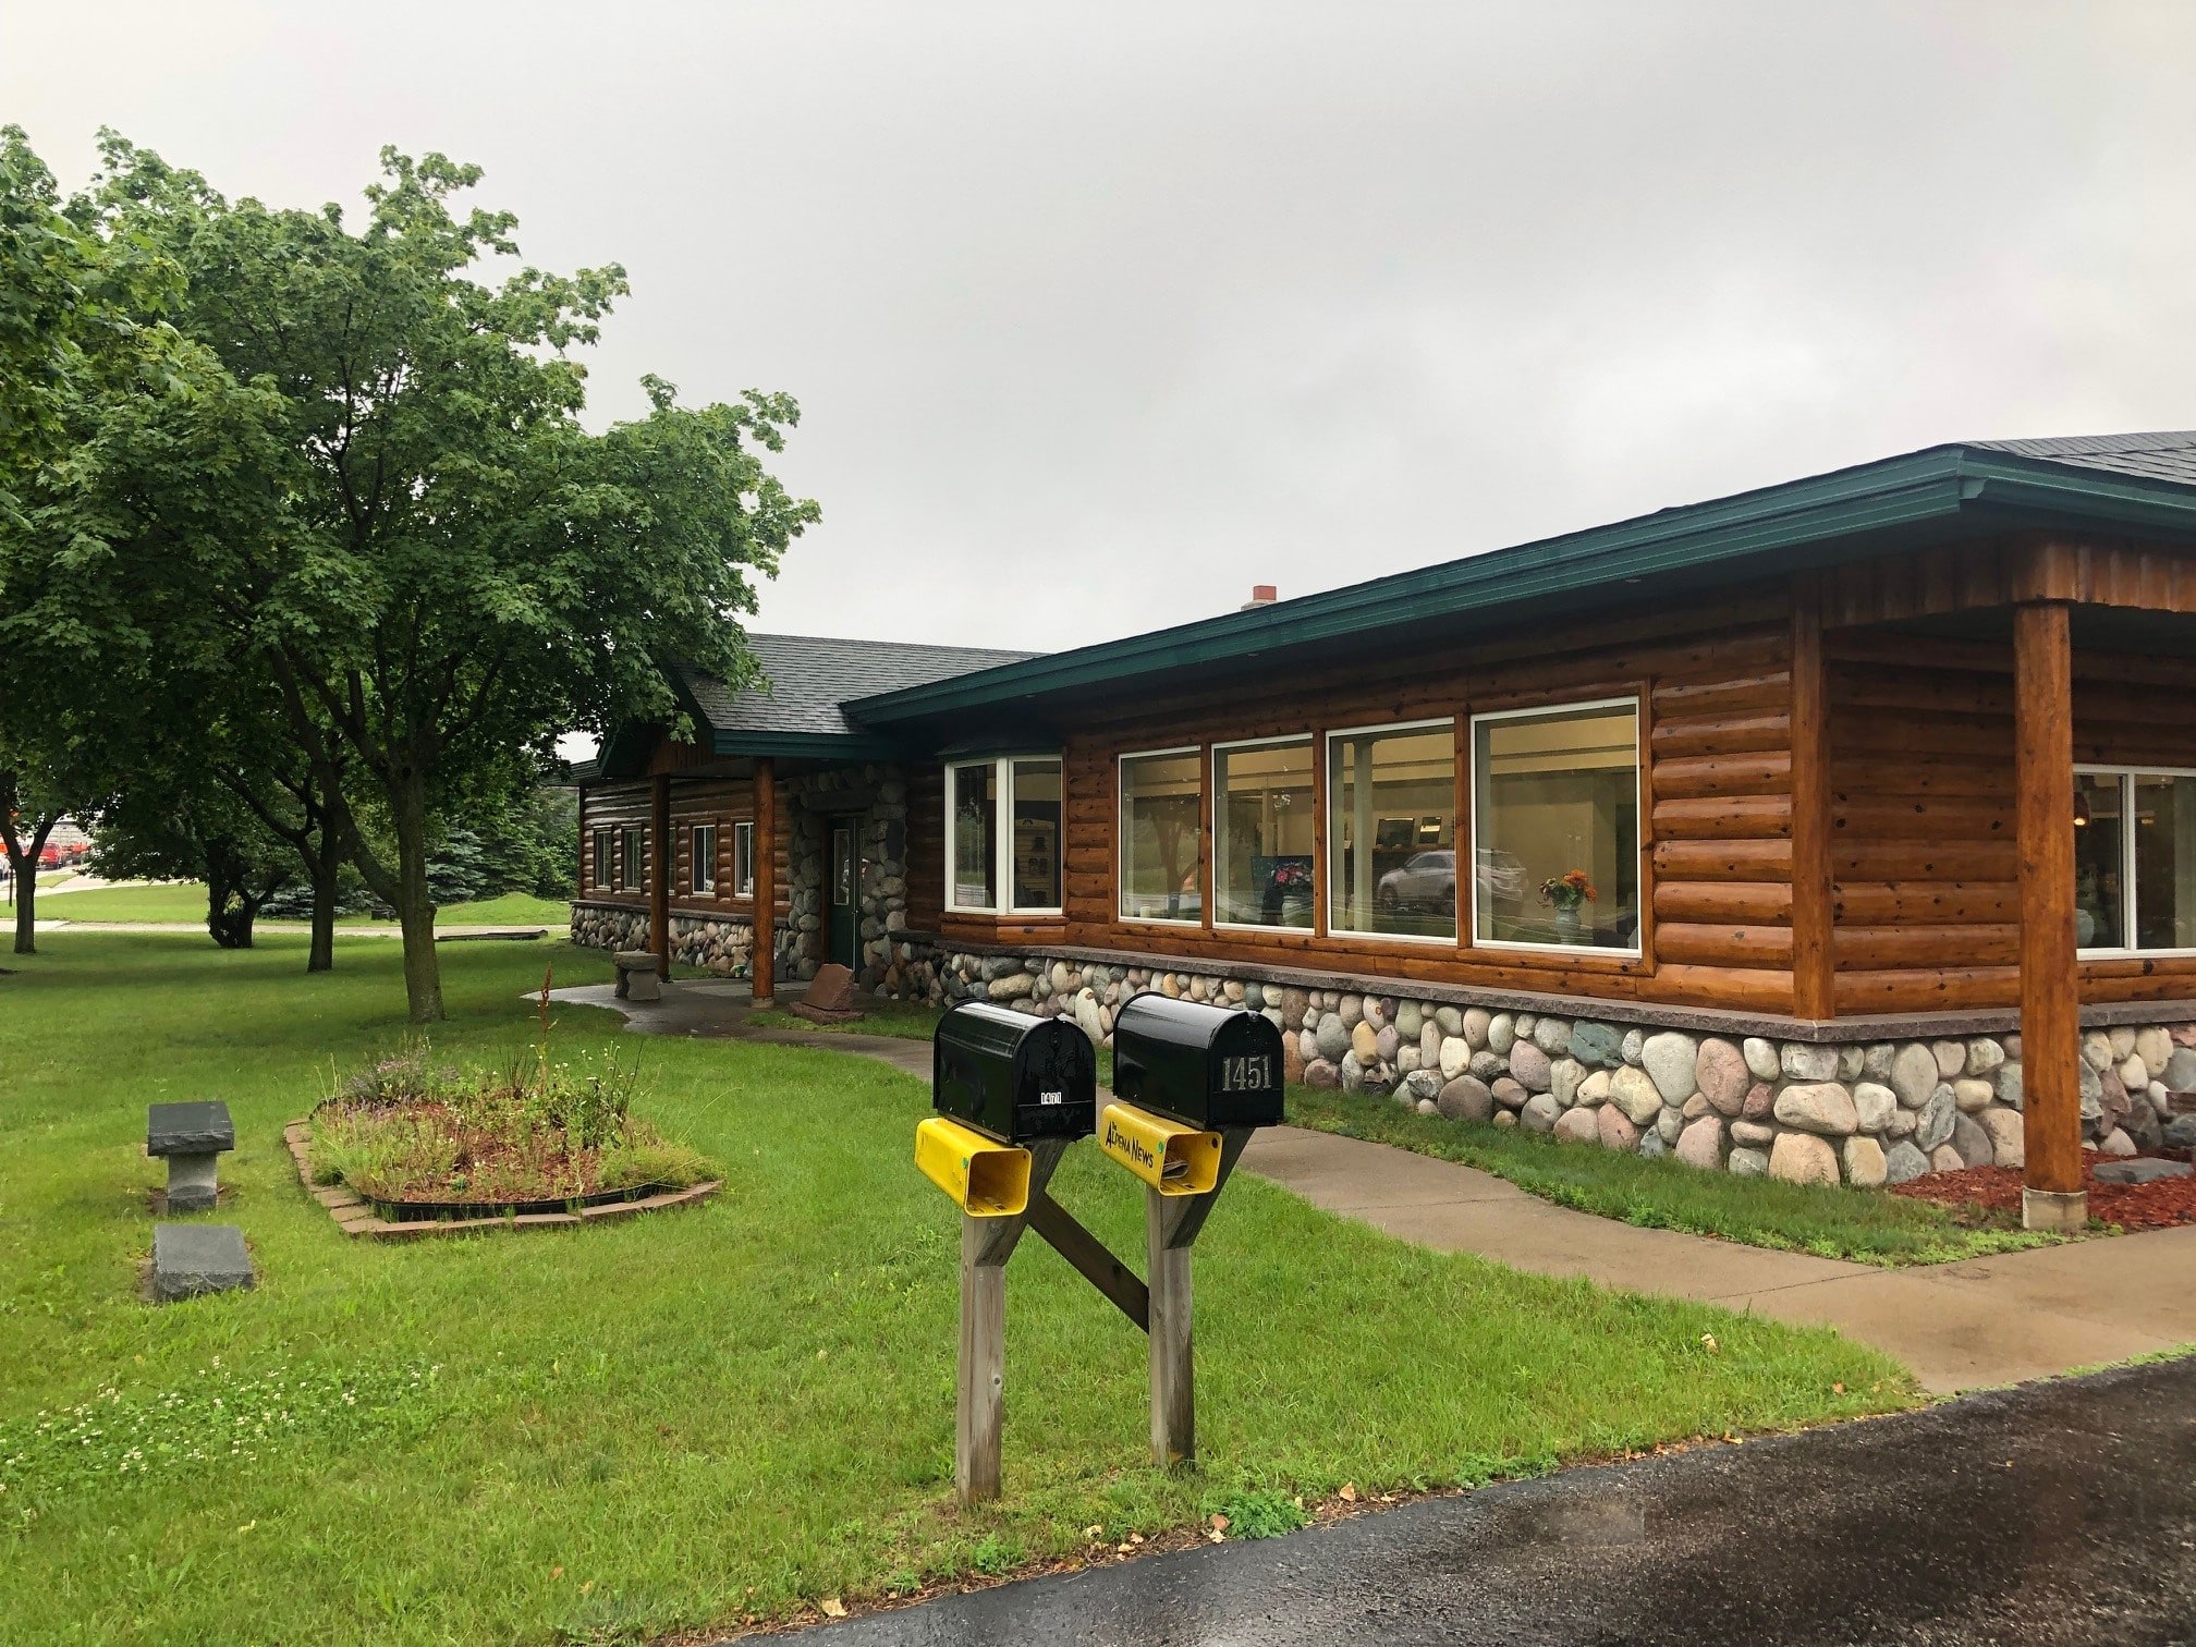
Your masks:
M 2012 663 L 2012 646 L 1829 637 L 1840 1015 L 2020 999 Z M 2077 764 L 2196 766 L 2196 668 L 2077 654 L 2073 716 Z M 2080 971 L 2084 1001 L 2196 995 L 2187 960 Z

